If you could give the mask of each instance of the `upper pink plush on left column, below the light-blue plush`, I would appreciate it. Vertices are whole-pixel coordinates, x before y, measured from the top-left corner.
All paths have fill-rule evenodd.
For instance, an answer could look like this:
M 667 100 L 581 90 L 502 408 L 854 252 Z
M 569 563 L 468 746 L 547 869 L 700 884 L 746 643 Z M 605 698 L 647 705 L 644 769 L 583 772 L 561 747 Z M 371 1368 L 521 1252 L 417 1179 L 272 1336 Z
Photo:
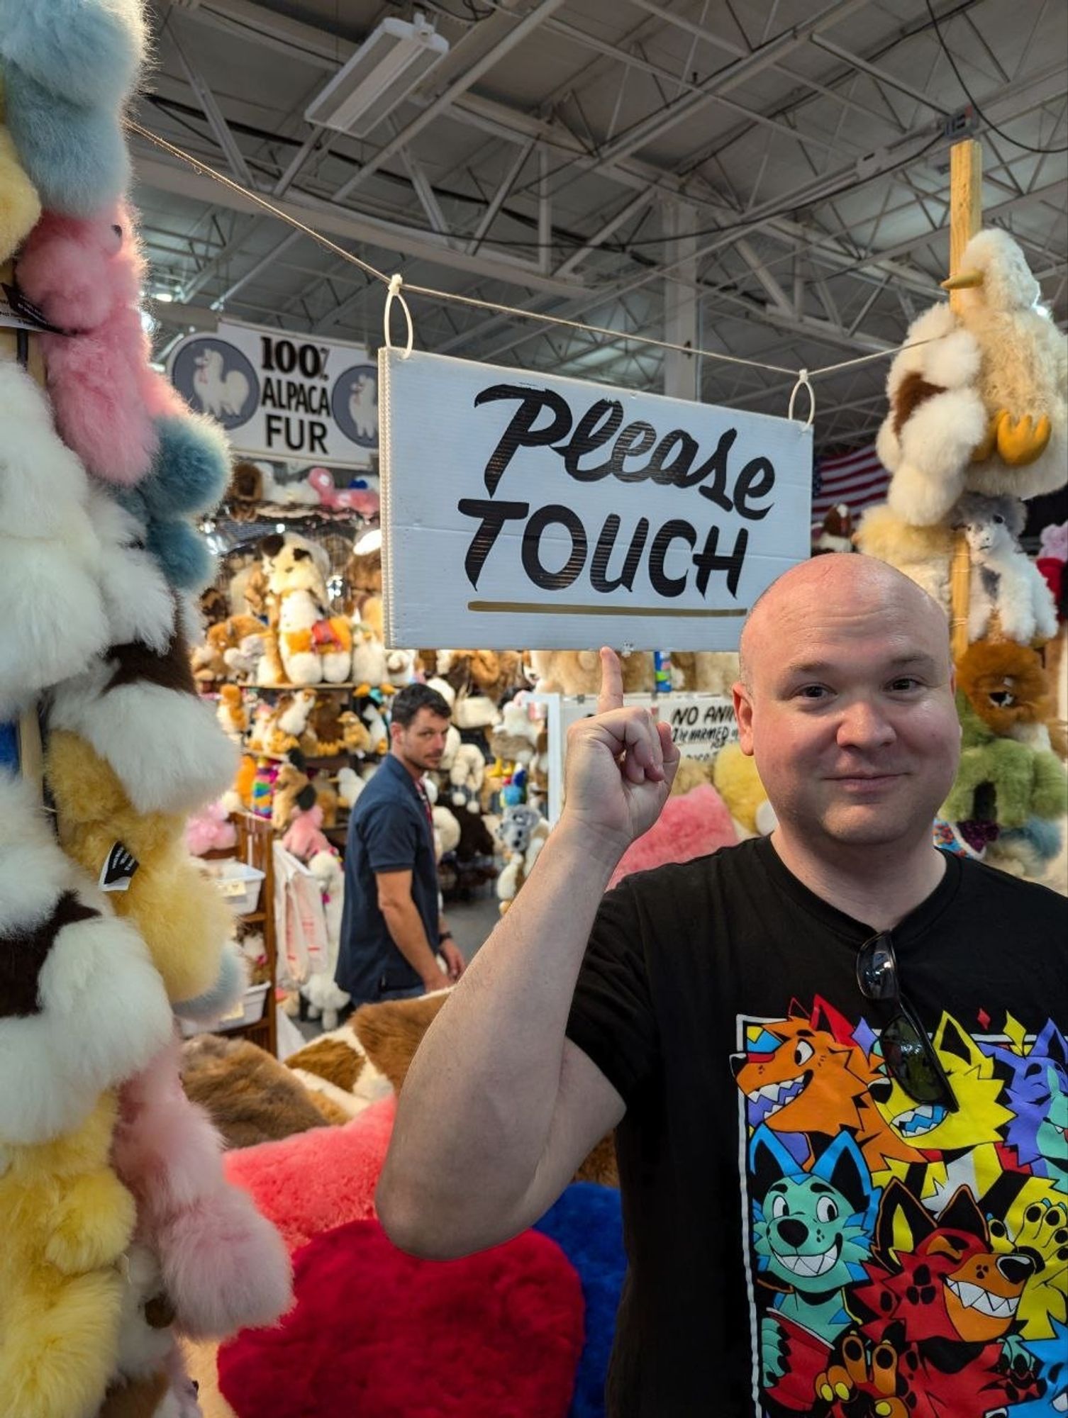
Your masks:
M 43 335 L 48 391 L 64 441 L 98 478 L 129 486 L 159 445 L 153 420 L 184 410 L 149 364 L 140 325 L 145 258 L 125 204 L 89 220 L 52 213 L 30 233 L 18 284 L 64 335 Z

